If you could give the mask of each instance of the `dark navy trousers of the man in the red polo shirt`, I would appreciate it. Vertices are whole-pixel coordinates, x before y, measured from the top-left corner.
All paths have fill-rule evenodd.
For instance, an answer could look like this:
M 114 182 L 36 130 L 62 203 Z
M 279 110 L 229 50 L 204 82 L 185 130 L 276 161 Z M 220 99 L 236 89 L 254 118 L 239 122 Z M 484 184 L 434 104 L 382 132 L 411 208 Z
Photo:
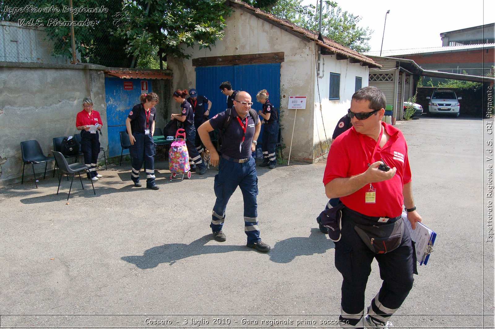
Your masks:
M 402 241 L 395 250 L 375 254 L 361 240 L 350 223 L 373 225 L 376 222 L 363 220 L 348 208 L 342 213 L 342 237 L 335 242 L 335 267 L 342 274 L 342 299 L 340 321 L 349 328 L 357 325 L 364 311 L 364 292 L 371 273 L 373 259 L 378 261 L 382 287 L 373 298 L 368 314 L 387 322 L 402 305 L 412 288 L 413 273 L 416 273 L 416 258 L 409 231 L 404 229 Z M 402 220 L 399 218 L 398 220 Z M 367 221 L 367 222 L 366 222 Z

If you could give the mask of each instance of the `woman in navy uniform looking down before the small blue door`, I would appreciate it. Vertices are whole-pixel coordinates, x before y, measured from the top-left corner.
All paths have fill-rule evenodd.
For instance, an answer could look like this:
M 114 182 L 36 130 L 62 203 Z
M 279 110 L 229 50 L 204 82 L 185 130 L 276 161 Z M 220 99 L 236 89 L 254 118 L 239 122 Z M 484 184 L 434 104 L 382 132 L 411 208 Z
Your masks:
M 125 121 L 127 133 L 129 134 L 129 153 L 132 161 L 131 179 L 135 187 L 141 187 L 139 172 L 145 163 L 146 187 L 158 189 L 155 185 L 154 156 L 156 145 L 153 141 L 156 109 L 159 98 L 155 93 L 142 94 L 139 97 L 141 103 L 132 108 Z

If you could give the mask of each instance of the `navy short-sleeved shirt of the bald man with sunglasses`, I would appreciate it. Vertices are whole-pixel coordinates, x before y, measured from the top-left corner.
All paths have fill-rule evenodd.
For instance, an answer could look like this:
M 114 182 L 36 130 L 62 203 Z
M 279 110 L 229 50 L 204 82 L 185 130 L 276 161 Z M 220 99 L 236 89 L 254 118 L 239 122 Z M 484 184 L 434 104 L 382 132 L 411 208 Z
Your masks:
M 225 129 L 225 134 L 222 142 L 222 147 L 220 152 L 227 156 L 230 156 L 234 159 L 246 159 L 251 156 L 251 143 L 252 138 L 254 136 L 254 128 L 256 123 L 259 121 L 259 117 L 256 115 L 255 118 L 250 116 L 250 113 L 247 112 L 246 118 L 242 120 L 243 125 L 246 126 L 247 119 L 247 128 L 246 128 L 246 137 L 242 144 L 242 149 L 239 151 L 239 146 L 241 145 L 241 141 L 243 140 L 244 130 L 239 123 L 239 115 L 235 108 L 232 108 L 233 118 L 230 121 L 229 126 Z M 227 120 L 227 112 L 223 111 L 215 115 L 210 119 L 210 124 L 213 129 L 222 129 L 223 124 Z

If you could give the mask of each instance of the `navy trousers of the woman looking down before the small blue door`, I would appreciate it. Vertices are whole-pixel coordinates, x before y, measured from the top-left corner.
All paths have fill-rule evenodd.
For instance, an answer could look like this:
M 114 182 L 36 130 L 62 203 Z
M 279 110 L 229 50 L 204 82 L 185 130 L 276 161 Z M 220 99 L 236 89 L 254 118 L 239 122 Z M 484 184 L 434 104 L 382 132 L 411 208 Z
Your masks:
M 156 155 L 156 145 L 151 134 L 133 133 L 134 145 L 129 147 L 131 155 L 132 171 L 131 179 L 134 183 L 139 182 L 139 172 L 145 163 L 146 186 L 155 185 L 154 156 Z

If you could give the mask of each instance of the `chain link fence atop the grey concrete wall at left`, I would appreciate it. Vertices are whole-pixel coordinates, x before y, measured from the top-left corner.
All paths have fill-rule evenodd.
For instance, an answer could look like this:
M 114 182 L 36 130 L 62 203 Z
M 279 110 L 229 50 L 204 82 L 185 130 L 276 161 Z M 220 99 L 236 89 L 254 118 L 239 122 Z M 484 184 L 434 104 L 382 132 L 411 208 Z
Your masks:
M 125 0 L 70 2 L 0 0 L 0 61 L 159 68 L 154 58 L 129 55 L 115 35 Z

